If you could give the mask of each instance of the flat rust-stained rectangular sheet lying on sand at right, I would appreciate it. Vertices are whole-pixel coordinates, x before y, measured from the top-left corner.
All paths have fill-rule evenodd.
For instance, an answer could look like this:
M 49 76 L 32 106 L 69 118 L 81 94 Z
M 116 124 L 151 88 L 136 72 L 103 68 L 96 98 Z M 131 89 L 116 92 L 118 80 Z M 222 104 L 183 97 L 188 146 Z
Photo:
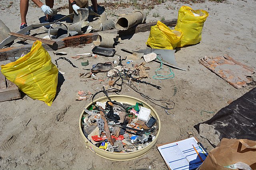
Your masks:
M 255 72 L 252 68 L 229 56 L 203 57 L 198 61 L 238 89 L 247 86 L 246 83 L 252 82 L 251 74 Z

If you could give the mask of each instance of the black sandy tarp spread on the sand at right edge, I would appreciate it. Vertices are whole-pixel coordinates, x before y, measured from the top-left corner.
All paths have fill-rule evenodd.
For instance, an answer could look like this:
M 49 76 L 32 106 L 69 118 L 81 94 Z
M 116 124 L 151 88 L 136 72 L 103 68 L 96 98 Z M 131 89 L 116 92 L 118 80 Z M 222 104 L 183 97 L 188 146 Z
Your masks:
M 220 109 L 208 125 L 214 125 L 222 138 L 256 140 L 256 88 L 253 88 L 230 105 Z M 199 133 L 200 124 L 194 127 Z

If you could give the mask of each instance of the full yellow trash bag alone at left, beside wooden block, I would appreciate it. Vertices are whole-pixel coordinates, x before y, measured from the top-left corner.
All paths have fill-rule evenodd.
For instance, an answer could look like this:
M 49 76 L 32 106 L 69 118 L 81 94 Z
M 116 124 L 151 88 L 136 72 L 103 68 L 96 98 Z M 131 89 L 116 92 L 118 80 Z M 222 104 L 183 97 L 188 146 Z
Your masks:
M 27 55 L 1 65 L 1 68 L 2 74 L 30 98 L 52 105 L 58 83 L 58 68 L 52 63 L 41 41 L 34 42 Z

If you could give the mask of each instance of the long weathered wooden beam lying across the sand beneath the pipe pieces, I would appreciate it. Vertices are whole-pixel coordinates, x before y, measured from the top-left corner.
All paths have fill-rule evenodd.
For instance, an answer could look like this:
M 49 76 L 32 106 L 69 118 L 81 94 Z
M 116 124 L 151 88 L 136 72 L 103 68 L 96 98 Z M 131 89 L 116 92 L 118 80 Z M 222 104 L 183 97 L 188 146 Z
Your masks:
M 166 20 L 162 21 L 167 26 L 173 27 L 176 25 L 177 20 Z M 150 31 L 151 26 L 156 25 L 156 22 L 144 23 L 131 27 L 128 30 L 119 31 L 119 37 L 132 35 L 134 33 Z M 116 29 L 103 31 L 103 32 L 116 32 Z M 43 47 L 47 51 L 62 49 L 66 47 L 74 47 L 81 44 L 90 44 L 92 41 L 95 41 L 98 37 L 98 33 L 86 33 L 83 35 L 76 35 L 72 37 L 66 37 L 63 39 L 56 39 L 54 45 L 43 44 Z M 32 44 L 22 45 L 18 47 L 8 47 L 5 49 L 0 49 L 0 61 L 8 60 L 9 57 L 19 57 L 22 53 L 29 53 Z

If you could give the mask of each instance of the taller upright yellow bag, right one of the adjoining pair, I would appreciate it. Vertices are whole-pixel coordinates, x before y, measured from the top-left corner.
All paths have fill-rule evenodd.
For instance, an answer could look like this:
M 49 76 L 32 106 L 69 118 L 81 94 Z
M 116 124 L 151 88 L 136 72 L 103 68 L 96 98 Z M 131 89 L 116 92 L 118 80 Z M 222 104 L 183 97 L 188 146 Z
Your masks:
M 188 6 L 180 8 L 175 29 L 181 29 L 184 35 L 177 47 L 194 45 L 201 41 L 202 29 L 208 15 L 208 12 L 204 10 L 192 10 Z

